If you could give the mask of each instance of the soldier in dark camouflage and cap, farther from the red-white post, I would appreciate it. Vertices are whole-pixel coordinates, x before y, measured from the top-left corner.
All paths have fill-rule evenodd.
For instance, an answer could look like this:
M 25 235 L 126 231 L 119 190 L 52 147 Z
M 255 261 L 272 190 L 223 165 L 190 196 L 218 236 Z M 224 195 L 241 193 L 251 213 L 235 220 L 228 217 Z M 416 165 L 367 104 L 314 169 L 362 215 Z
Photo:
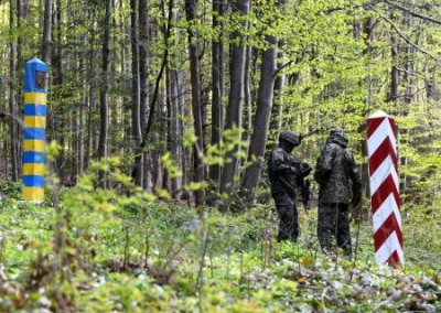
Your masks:
M 276 202 L 280 225 L 278 241 L 292 240 L 299 237 L 299 218 L 295 196 L 300 177 L 308 176 L 312 169 L 291 155 L 292 150 L 301 142 L 301 137 L 292 131 L 279 136 L 279 145 L 268 159 L 271 195 Z

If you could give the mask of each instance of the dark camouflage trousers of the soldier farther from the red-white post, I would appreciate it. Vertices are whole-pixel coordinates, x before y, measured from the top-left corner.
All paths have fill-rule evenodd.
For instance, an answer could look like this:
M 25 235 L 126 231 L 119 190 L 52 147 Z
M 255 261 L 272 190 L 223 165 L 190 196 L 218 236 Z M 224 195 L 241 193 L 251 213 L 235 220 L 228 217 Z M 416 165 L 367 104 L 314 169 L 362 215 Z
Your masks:
M 299 237 L 299 215 L 294 205 L 294 199 L 284 192 L 272 194 L 276 209 L 279 215 L 279 234 L 277 240 L 297 241 Z

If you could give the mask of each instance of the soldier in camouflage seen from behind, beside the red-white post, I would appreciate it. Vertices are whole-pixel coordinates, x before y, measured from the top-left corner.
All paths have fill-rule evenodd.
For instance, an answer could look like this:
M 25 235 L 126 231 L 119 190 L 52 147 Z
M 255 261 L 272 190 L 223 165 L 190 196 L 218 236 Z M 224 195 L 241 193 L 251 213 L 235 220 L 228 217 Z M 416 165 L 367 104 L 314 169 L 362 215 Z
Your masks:
M 343 130 L 332 130 L 318 159 L 314 177 L 320 185 L 318 236 L 322 250 L 330 252 L 335 237 L 337 247 L 349 257 L 349 205 L 358 206 L 362 183 L 354 156 L 346 147 Z

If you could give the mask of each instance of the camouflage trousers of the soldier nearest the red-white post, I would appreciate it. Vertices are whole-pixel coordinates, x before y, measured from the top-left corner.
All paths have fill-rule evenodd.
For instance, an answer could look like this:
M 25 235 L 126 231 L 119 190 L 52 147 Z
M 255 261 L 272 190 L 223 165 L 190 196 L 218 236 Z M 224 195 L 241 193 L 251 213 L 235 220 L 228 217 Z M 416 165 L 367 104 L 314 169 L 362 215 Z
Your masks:
M 352 253 L 348 205 L 342 203 L 319 206 L 318 236 L 324 253 L 333 250 L 333 238 L 347 257 Z

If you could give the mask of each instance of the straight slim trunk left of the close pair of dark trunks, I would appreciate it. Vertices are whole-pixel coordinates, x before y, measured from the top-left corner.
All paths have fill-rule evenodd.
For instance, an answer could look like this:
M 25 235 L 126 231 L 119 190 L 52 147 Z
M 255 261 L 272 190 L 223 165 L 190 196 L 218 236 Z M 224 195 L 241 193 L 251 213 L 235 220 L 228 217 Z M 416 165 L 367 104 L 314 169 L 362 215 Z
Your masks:
M 99 91 L 100 102 L 100 129 L 99 129 L 99 144 L 98 144 L 98 156 L 101 161 L 107 160 L 107 141 L 109 131 L 109 108 L 108 108 L 108 68 L 109 68 L 109 40 L 110 40 L 110 21 L 111 21 L 111 2 L 108 0 L 106 4 L 106 17 L 104 22 L 104 35 L 103 35 L 103 65 L 101 65 L 101 84 Z M 105 173 L 100 172 L 100 186 L 107 187 Z

